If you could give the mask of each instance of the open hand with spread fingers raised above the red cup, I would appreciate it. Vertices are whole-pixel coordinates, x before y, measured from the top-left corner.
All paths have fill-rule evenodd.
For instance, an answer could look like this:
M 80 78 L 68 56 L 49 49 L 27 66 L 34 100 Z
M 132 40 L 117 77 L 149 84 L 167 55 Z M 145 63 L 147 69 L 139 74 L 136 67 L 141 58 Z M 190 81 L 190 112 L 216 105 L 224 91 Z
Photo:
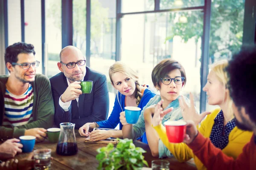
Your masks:
M 189 99 L 190 99 L 190 106 L 186 104 L 184 96 L 180 96 L 179 98 L 183 119 L 185 121 L 192 120 L 193 122 L 195 122 L 195 125 L 198 125 L 204 119 L 204 117 L 207 114 L 210 114 L 211 112 L 204 112 L 204 113 L 198 114 L 195 111 L 194 97 L 191 93 L 189 93 Z

